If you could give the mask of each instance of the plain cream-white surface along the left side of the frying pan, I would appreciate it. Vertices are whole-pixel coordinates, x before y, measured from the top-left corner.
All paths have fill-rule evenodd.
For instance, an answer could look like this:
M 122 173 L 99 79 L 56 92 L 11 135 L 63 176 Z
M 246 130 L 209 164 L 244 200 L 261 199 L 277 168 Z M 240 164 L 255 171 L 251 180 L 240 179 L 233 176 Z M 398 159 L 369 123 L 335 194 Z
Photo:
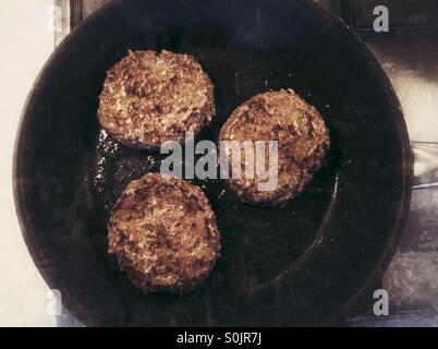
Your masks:
M 0 1 L 0 326 L 54 326 L 48 288 L 23 241 L 12 194 L 16 127 L 32 85 L 53 50 L 52 0 Z

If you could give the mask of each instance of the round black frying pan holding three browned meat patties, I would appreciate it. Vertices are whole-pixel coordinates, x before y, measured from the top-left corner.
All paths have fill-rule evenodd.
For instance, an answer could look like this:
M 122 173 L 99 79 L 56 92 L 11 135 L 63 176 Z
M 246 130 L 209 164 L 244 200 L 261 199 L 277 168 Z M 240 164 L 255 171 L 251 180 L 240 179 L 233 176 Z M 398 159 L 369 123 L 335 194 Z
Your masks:
M 106 71 L 129 49 L 193 55 L 215 84 L 217 140 L 231 111 L 293 88 L 321 112 L 332 146 L 283 208 L 195 181 L 221 231 L 221 257 L 186 294 L 136 290 L 107 253 L 106 222 L 126 183 L 160 157 L 118 145 L 96 111 Z M 312 1 L 123 0 L 87 19 L 38 77 L 15 147 L 14 192 L 40 273 L 86 325 L 337 324 L 373 298 L 410 204 L 412 156 L 396 94 L 348 26 Z

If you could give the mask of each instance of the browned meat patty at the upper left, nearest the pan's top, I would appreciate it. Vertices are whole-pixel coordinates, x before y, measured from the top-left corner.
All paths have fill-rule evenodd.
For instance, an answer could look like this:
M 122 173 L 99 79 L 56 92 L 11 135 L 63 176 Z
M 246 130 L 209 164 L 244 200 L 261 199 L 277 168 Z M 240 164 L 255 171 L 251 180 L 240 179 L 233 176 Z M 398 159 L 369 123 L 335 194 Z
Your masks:
M 107 73 L 98 119 L 115 141 L 148 149 L 183 143 L 185 132 L 196 135 L 214 113 L 214 86 L 193 57 L 130 51 Z

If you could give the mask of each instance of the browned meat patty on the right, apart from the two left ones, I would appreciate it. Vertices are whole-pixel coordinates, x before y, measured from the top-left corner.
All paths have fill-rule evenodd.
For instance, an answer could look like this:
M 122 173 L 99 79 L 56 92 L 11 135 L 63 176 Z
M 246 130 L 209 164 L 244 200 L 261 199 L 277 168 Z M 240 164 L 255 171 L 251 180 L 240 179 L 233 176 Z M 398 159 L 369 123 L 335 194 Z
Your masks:
M 222 127 L 219 140 L 278 141 L 278 185 L 260 191 L 258 183 L 266 179 L 243 177 L 228 183 L 242 201 L 255 204 L 283 205 L 302 192 L 313 173 L 320 167 L 329 145 L 329 132 L 320 113 L 291 89 L 268 92 L 254 96 L 236 108 Z M 228 153 L 233 156 L 232 153 Z M 268 167 L 266 152 L 266 167 Z M 231 167 L 236 165 L 232 165 Z M 260 164 L 255 160 L 255 168 Z

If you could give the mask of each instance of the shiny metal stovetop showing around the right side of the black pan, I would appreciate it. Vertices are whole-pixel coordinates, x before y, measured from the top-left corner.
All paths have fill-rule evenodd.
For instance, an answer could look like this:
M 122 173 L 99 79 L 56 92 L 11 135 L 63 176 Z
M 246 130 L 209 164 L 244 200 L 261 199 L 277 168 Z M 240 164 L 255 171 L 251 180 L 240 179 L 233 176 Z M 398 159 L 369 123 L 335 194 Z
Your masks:
M 58 34 L 57 41 L 107 2 L 73 0 L 66 8 L 68 1 L 59 1 L 70 25 Z M 400 98 L 417 159 L 417 188 L 412 193 L 404 236 L 381 280 L 381 287 L 389 293 L 390 315 L 377 317 L 370 305 L 364 306 L 360 316 L 344 325 L 438 326 L 438 1 L 315 2 L 343 19 L 380 61 Z M 373 28 L 376 19 L 373 11 L 377 5 L 389 10 L 388 33 L 376 33 Z M 424 183 L 433 185 L 421 185 Z M 373 294 L 369 300 L 373 301 Z M 59 325 L 78 323 L 69 316 L 62 317 Z

